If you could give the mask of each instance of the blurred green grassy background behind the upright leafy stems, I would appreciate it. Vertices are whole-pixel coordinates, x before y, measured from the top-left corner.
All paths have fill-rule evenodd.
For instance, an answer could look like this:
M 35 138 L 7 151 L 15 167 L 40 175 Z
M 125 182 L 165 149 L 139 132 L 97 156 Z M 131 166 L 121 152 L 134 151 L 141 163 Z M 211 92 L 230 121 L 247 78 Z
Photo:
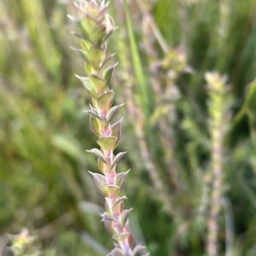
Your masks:
M 109 13 L 119 27 L 109 41 L 119 61 L 111 88 L 116 103 L 125 102 L 116 151 L 128 151 L 119 171 L 131 168 L 125 207 L 134 208 L 137 242 L 152 256 L 207 255 L 204 75 L 218 71 L 227 76 L 230 116 L 222 188 L 230 207 L 218 219 L 219 255 L 227 230 L 230 255 L 256 255 L 256 2 L 130 0 L 125 11 L 111 0 Z M 104 198 L 87 172 L 98 172 L 84 152 L 96 137 L 84 113 L 90 97 L 74 77 L 84 64 L 70 49 L 79 40 L 67 14 L 76 15 L 69 0 L 0 3 L 0 250 L 4 234 L 24 227 L 44 255 L 105 255 L 113 247 L 99 215 Z

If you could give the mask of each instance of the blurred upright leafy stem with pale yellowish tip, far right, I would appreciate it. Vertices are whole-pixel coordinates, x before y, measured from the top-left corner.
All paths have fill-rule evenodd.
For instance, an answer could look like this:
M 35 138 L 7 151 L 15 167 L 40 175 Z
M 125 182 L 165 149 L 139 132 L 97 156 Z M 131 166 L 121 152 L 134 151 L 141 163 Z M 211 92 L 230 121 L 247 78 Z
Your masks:
M 218 216 L 224 190 L 224 136 L 227 131 L 229 117 L 227 116 L 227 94 L 225 77 L 218 73 L 206 73 L 205 76 L 209 94 L 209 112 L 211 117 L 212 137 L 212 195 L 211 209 L 208 221 L 208 256 L 218 255 Z

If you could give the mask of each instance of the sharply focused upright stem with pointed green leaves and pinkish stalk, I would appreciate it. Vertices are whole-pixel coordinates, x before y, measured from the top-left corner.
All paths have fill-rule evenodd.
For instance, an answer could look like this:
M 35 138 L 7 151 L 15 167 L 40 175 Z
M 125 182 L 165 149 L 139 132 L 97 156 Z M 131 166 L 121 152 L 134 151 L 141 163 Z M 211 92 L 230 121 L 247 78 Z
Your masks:
M 106 198 L 106 212 L 102 213 L 109 233 L 117 241 L 116 247 L 109 256 L 135 256 L 143 247 L 133 247 L 133 236 L 128 223 L 131 209 L 124 209 L 125 195 L 121 196 L 125 188 L 126 175 L 129 172 L 116 173 L 117 162 L 125 152 L 114 155 L 113 150 L 119 143 L 121 120 L 112 124 L 113 117 L 119 106 L 113 106 L 113 90 L 108 88 L 115 65 L 110 60 L 113 55 L 107 55 L 107 39 L 114 32 L 113 20 L 107 14 L 108 3 L 96 0 L 90 2 L 80 1 L 75 4 L 79 10 L 79 18 L 69 16 L 79 28 L 74 32 L 80 38 L 82 49 L 75 49 L 85 61 L 86 77 L 77 76 L 85 90 L 92 97 L 90 110 L 90 127 L 99 138 L 97 140 L 101 149 L 88 150 L 98 158 L 98 167 L 102 174 L 92 173 L 96 187 Z

